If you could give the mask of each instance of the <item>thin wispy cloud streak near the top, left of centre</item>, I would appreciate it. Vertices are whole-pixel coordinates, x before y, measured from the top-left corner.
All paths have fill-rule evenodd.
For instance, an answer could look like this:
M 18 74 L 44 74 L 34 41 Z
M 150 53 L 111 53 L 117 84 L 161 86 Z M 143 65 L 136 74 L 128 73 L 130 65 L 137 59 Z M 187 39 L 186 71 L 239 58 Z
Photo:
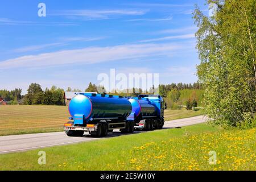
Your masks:
M 67 16 L 69 18 L 82 18 L 83 20 L 102 20 L 117 17 L 119 15 L 144 15 L 147 10 L 116 9 L 116 10 L 61 10 L 49 15 Z

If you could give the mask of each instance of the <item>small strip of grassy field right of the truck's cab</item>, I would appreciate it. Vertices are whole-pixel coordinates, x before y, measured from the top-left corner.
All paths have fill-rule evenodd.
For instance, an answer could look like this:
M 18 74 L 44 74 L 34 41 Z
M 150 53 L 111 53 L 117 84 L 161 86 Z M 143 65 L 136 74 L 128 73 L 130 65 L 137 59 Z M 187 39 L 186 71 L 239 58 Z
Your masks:
M 185 108 L 179 109 L 179 110 L 171 110 L 167 109 L 164 110 L 164 119 L 166 121 L 174 120 L 174 119 L 182 119 L 182 118 L 189 118 L 189 117 L 194 117 L 197 115 L 203 115 L 204 110 L 187 110 Z

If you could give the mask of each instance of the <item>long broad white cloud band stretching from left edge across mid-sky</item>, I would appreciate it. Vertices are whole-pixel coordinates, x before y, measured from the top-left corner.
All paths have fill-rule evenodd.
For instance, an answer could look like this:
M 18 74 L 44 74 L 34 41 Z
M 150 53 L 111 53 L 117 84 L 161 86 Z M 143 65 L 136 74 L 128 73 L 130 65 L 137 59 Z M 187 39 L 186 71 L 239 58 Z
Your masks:
M 112 47 L 87 47 L 39 55 L 17 57 L 0 62 L 0 69 L 44 67 L 65 64 L 94 64 L 106 61 L 168 55 L 182 46 L 173 44 L 130 44 Z

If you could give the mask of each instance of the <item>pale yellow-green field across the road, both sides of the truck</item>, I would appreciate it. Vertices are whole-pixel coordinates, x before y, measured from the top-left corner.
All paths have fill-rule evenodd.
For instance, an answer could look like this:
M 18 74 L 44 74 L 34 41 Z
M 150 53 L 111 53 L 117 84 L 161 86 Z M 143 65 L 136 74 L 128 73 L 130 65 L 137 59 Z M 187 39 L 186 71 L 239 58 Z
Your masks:
M 201 111 L 166 110 L 166 120 L 200 115 Z M 1 105 L 0 135 L 63 131 L 68 121 L 67 106 Z

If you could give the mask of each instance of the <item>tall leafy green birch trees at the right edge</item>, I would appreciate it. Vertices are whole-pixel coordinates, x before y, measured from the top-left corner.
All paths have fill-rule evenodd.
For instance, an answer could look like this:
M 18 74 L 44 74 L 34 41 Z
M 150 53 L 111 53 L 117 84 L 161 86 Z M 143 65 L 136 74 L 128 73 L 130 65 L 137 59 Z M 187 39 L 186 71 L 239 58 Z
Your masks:
M 193 13 L 205 112 L 214 125 L 247 126 L 256 112 L 256 1 L 212 2 L 215 16 L 209 18 L 198 7 Z

